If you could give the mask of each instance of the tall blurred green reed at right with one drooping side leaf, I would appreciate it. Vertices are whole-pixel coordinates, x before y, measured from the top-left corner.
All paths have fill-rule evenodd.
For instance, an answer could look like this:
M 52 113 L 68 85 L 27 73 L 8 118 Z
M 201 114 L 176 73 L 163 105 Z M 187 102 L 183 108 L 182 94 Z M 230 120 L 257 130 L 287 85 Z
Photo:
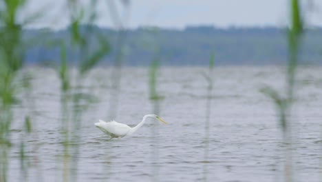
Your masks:
M 290 0 L 290 22 L 288 29 L 288 65 L 286 74 L 286 97 L 282 97 L 279 92 L 273 88 L 266 87 L 261 89 L 268 97 L 274 101 L 279 113 L 279 125 L 281 126 L 284 143 L 285 181 L 291 182 L 293 179 L 292 166 L 292 125 L 290 123 L 290 113 L 292 104 L 294 103 L 294 86 L 298 64 L 298 51 L 301 45 L 301 34 L 303 32 L 303 23 L 301 19 L 301 11 L 299 1 Z

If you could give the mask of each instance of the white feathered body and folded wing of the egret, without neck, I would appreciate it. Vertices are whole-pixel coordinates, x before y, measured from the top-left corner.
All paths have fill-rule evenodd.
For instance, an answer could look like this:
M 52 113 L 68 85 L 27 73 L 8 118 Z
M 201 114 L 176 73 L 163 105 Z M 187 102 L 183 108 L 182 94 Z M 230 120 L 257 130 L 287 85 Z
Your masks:
M 131 130 L 128 125 L 118 123 L 116 121 L 105 122 L 100 120 L 100 122 L 95 125 L 103 132 L 107 132 L 108 134 L 113 134 L 116 136 L 125 136 L 127 132 Z

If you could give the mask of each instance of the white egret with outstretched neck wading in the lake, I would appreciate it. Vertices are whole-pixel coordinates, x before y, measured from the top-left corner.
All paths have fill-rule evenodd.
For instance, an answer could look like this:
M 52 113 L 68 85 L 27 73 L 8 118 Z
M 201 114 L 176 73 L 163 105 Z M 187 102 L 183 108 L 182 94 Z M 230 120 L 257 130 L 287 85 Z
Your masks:
M 158 119 L 159 121 L 167 124 L 166 121 L 164 121 L 163 119 L 161 119 L 160 117 L 158 117 L 155 114 L 147 114 L 143 117 L 142 121 L 140 123 L 138 123 L 138 125 L 136 125 L 135 127 L 131 128 L 128 125 L 122 124 L 122 123 L 118 123 L 116 121 L 102 121 L 102 120 L 98 120 L 98 123 L 95 123 L 96 127 L 99 128 L 100 130 L 102 130 L 103 132 L 105 132 L 106 134 L 108 134 L 109 136 L 111 136 L 110 139 L 113 138 L 122 138 L 124 136 L 129 136 L 131 134 L 133 134 L 133 132 L 136 132 L 136 130 L 138 130 L 144 123 L 145 120 L 151 117 L 153 119 Z

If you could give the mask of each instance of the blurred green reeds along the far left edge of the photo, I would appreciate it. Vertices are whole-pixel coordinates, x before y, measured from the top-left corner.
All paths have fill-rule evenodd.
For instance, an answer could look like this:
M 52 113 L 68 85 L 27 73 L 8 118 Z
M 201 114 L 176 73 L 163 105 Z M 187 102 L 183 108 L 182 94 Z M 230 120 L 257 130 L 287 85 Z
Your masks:
M 21 25 L 17 23 L 24 1 L 3 1 L 0 9 L 0 181 L 8 181 L 11 148 L 12 104 L 16 101 L 14 80 L 23 64 Z

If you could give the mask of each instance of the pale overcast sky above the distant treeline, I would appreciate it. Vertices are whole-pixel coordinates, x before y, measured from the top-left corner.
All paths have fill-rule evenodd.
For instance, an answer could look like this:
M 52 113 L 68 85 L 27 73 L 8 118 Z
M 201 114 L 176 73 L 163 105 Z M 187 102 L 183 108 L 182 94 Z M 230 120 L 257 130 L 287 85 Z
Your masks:
M 85 6 L 91 0 L 81 0 Z M 98 0 L 96 10 L 99 26 L 116 27 L 111 18 L 111 1 Z M 138 26 L 159 26 L 162 28 L 184 28 L 189 25 L 229 26 L 286 26 L 288 24 L 289 0 L 132 0 L 127 9 L 116 2 L 120 14 L 127 14 L 123 20 L 129 28 Z M 123 0 L 125 1 L 125 0 Z M 33 12 L 45 12 L 46 16 L 32 24 L 34 28 L 64 28 L 69 24 L 66 0 L 30 0 L 21 13 L 28 17 Z M 314 6 L 311 6 L 314 4 Z M 322 1 L 302 1 L 306 24 L 322 26 Z M 126 11 L 124 11 L 124 9 Z

